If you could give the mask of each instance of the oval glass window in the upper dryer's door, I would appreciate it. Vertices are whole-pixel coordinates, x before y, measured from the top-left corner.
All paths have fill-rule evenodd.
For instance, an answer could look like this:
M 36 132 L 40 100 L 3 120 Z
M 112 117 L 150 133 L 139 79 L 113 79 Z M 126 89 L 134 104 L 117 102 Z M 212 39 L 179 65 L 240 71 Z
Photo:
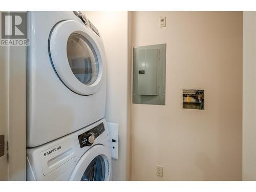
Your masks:
M 99 62 L 89 40 L 80 34 L 71 34 L 67 42 L 67 56 L 70 68 L 80 82 L 89 86 L 96 81 Z

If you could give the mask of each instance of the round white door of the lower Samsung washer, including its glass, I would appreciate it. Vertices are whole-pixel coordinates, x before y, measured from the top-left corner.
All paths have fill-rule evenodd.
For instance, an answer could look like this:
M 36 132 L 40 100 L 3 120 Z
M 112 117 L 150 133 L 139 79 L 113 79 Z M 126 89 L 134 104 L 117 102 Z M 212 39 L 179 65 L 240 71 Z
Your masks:
M 91 147 L 76 164 L 70 181 L 109 181 L 111 172 L 110 150 L 104 145 Z

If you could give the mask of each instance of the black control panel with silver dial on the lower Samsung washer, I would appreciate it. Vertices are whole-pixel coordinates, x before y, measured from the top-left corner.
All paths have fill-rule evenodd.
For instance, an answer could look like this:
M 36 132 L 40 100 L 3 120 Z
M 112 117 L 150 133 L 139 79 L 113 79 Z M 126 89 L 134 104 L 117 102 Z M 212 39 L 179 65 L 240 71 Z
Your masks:
M 105 131 L 105 127 L 103 123 L 95 126 L 93 129 L 78 135 L 78 140 L 80 147 L 91 146 L 94 140 Z

